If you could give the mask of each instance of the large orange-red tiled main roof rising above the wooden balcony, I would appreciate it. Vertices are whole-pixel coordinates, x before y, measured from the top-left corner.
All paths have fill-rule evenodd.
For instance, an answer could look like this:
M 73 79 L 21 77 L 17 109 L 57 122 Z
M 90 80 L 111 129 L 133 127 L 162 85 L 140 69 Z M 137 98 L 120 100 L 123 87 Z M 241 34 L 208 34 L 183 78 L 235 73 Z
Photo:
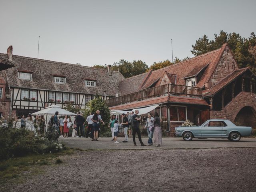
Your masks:
M 183 79 L 184 77 L 191 76 L 191 74 L 197 74 L 198 72 L 200 72 L 200 70 L 206 67 L 200 81 L 196 85 L 197 87 L 203 87 L 204 83 L 207 83 L 210 80 L 210 77 L 212 76 L 212 73 L 214 72 L 214 69 L 216 68 L 226 46 L 227 44 L 223 44 L 222 48 L 220 49 L 202 54 L 200 56 L 196 56 L 178 64 L 173 64 L 158 70 L 154 70 L 150 73 L 146 72 L 144 74 L 134 76 L 132 77 L 132 81 L 130 80 L 130 78 L 122 80 L 119 92 L 121 93 L 121 95 L 124 95 L 136 92 L 142 88 L 146 88 L 146 86 L 149 86 L 150 83 L 152 84 L 158 78 L 162 78 L 165 72 L 168 74 L 176 75 L 176 84 L 185 85 L 186 82 Z M 137 86 L 137 83 L 140 84 L 140 82 L 143 82 L 142 87 Z M 159 86 L 160 83 L 161 80 L 159 80 L 155 86 Z M 129 84 L 131 88 L 124 88 L 123 86 L 125 86 L 126 84 Z

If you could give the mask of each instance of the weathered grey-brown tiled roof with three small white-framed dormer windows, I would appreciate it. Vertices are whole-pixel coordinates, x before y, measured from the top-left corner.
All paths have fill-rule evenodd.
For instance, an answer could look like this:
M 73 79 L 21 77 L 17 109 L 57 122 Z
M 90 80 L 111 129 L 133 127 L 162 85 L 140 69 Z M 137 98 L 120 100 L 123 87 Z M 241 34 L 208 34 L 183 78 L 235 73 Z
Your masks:
M 0 54 L 0 58 L 6 59 L 7 54 Z M 111 75 L 106 69 L 98 69 L 76 64 L 68 64 L 23 56 L 12 56 L 13 68 L 4 70 L 7 76 L 8 86 L 56 90 L 84 94 L 99 94 L 116 96 L 120 80 L 124 77 L 120 72 L 112 71 Z M 31 71 L 32 80 L 20 80 L 18 70 Z M 54 75 L 66 76 L 66 84 L 54 83 Z M 94 79 L 96 87 L 88 87 L 84 79 Z

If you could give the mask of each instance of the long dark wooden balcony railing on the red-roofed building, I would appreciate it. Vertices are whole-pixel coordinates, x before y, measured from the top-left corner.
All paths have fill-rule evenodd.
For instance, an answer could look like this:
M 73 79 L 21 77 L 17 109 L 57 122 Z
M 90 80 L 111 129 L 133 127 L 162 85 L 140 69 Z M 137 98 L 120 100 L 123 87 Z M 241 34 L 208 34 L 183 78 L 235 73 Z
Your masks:
M 202 88 L 176 84 L 165 84 L 145 90 L 140 90 L 131 94 L 111 98 L 106 100 L 106 102 L 109 107 L 112 107 L 149 98 L 156 98 L 167 94 L 202 98 Z

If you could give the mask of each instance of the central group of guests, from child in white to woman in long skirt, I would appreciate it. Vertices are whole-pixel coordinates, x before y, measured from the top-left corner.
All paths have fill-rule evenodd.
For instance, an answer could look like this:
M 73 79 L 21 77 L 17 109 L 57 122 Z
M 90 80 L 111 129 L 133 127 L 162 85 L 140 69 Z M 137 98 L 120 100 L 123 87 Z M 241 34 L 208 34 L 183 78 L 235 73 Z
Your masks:
M 134 143 L 134 146 L 137 146 L 135 136 L 136 133 L 138 134 L 138 139 L 140 141 L 141 146 L 146 146 L 141 139 L 140 129 L 139 129 L 139 122 L 142 120 L 139 116 L 139 110 L 135 110 L 132 113 L 127 112 L 127 114 L 122 114 L 122 122 L 118 123 L 118 120 L 116 119 L 115 115 L 111 116 L 109 127 L 112 132 L 112 141 L 114 143 L 118 143 L 117 136 L 118 136 L 118 126 L 123 126 L 124 128 L 124 141 L 122 142 L 128 142 L 128 130 L 131 126 L 132 128 L 132 140 Z M 146 119 L 146 125 L 144 126 L 144 129 L 147 129 L 148 132 L 148 145 L 156 144 L 156 147 L 159 147 L 162 145 L 162 130 L 161 130 L 161 119 L 157 112 L 155 112 L 154 116 L 153 114 L 148 114 L 148 118 Z M 129 134 L 131 135 L 131 134 Z M 153 136 L 154 135 L 154 136 Z

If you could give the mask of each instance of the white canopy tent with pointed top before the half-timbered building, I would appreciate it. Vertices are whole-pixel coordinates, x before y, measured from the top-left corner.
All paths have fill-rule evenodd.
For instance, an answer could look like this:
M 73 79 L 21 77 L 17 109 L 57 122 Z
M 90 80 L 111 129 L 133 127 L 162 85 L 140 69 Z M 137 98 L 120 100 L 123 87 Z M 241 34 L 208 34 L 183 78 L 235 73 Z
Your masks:
M 50 120 L 51 116 L 55 114 L 55 112 L 58 111 L 59 115 L 68 115 L 71 118 L 71 121 L 74 123 L 75 120 L 75 113 L 72 113 L 70 111 L 64 110 L 62 109 L 60 106 L 58 105 L 51 105 L 46 107 L 43 110 L 40 110 L 38 112 L 34 112 L 32 113 L 32 115 L 43 115 L 44 119 L 46 120 L 46 130 L 48 128 L 48 121 Z

